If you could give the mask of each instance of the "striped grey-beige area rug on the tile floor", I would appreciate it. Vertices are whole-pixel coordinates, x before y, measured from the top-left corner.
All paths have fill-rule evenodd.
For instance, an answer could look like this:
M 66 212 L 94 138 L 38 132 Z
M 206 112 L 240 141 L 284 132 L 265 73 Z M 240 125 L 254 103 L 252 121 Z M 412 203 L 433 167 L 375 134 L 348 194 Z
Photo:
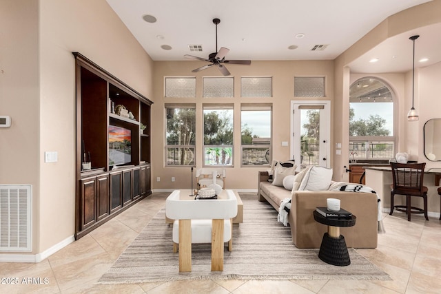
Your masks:
M 318 258 L 318 249 L 297 249 L 289 227 L 277 222 L 266 202 L 243 200 L 244 222 L 233 229 L 233 251 L 225 247 L 224 270 L 211 271 L 211 244 L 192 245 L 192 272 L 179 273 L 173 253 L 172 227 L 165 209 L 147 224 L 99 283 L 176 280 L 391 280 L 353 249 L 351 264 L 333 266 Z M 374 250 L 374 249 L 373 249 Z

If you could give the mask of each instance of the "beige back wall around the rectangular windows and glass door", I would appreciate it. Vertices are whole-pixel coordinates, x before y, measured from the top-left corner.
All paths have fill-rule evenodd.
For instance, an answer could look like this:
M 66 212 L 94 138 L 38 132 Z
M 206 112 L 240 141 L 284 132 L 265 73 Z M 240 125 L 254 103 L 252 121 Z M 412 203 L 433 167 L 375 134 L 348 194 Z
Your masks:
M 193 73 L 196 67 L 204 65 L 198 61 L 155 61 L 154 62 L 154 97 L 152 107 L 153 160 L 152 180 L 154 189 L 189 188 L 190 168 L 164 167 L 164 103 L 196 103 L 196 168 L 202 167 L 203 142 L 203 103 L 234 103 L 234 167 L 227 167 L 227 187 L 234 189 L 257 189 L 257 171 L 266 167 L 240 168 L 240 103 L 272 103 L 273 105 L 273 157 L 277 160 L 288 160 L 290 147 L 282 147 L 282 141 L 290 142 L 290 107 L 294 99 L 294 76 L 325 76 L 325 98 L 317 100 L 334 100 L 334 61 L 252 61 L 252 65 L 228 65 L 234 76 L 234 98 L 202 98 L 203 76 L 221 76 L 217 68 L 209 68 Z M 196 98 L 164 98 L 164 76 L 196 76 Z M 273 78 L 273 97 L 241 98 L 241 76 L 271 76 Z M 301 100 L 307 100 L 302 98 Z M 332 128 L 331 128 L 332 133 Z M 331 134 L 332 138 L 332 134 Z M 332 144 L 332 143 L 331 143 Z M 332 145 L 331 145 L 332 146 Z M 333 149 L 332 149 L 333 150 Z M 332 163 L 332 162 L 331 162 Z M 171 181 L 171 177 L 176 182 Z M 161 182 L 156 182 L 161 177 Z

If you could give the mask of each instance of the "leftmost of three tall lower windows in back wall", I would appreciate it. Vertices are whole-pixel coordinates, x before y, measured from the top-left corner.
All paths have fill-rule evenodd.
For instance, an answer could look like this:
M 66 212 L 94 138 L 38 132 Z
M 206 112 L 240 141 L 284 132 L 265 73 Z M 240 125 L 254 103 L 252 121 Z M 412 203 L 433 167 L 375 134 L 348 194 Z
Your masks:
M 165 165 L 194 166 L 196 143 L 195 105 L 165 105 Z

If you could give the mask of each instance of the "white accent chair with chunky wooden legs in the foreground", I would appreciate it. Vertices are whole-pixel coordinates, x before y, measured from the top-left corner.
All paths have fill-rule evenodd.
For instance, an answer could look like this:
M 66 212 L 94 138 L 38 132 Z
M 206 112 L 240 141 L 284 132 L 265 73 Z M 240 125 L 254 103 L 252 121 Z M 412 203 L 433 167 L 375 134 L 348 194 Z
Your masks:
M 165 215 L 174 220 L 173 252 L 179 249 L 179 271 L 192 271 L 192 243 L 212 243 L 212 271 L 223 271 L 224 243 L 232 251 L 232 218 L 237 198 L 227 190 L 226 199 L 180 199 L 178 190 L 165 201 Z

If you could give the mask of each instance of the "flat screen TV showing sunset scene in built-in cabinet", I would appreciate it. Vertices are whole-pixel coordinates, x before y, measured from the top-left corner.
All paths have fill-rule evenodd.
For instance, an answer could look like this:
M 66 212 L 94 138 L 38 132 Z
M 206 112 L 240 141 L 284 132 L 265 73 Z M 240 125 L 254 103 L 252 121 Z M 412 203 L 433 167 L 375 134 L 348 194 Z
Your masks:
M 109 166 L 132 162 L 132 131 L 109 125 Z

